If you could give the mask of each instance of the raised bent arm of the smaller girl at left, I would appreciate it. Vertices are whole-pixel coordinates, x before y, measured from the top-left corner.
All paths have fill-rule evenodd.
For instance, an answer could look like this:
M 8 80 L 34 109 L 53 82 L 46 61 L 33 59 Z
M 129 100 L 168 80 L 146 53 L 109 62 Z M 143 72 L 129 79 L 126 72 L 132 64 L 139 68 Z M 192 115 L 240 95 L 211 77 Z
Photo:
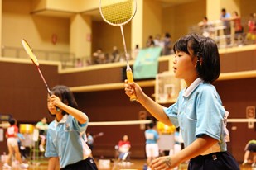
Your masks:
M 51 95 L 50 101 L 52 102 L 53 105 L 59 107 L 61 110 L 67 112 L 71 116 L 74 116 L 75 119 L 80 124 L 85 124 L 88 121 L 88 117 L 85 115 L 85 113 L 61 102 L 59 97 L 56 97 L 55 95 Z

